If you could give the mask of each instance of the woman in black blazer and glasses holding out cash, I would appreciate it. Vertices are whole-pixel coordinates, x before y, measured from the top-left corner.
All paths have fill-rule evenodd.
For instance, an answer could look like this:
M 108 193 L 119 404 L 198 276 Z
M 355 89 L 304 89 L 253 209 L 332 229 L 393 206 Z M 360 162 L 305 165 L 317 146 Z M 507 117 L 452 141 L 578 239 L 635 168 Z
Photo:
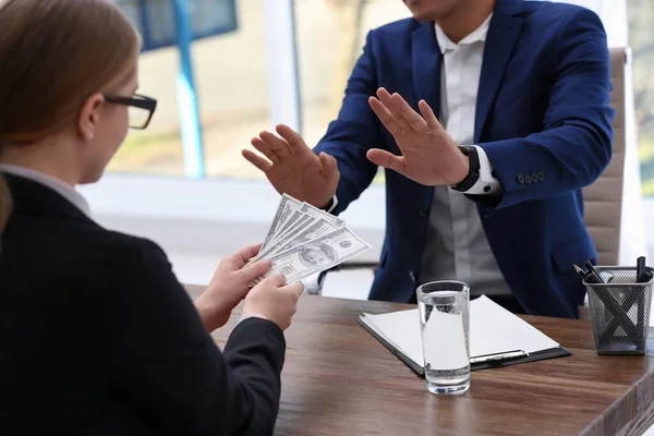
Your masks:
M 272 433 L 302 286 L 249 289 L 270 265 L 247 247 L 194 304 L 74 190 L 155 111 L 134 28 L 109 0 L 1 0 L 0 28 L 0 434 Z M 209 332 L 243 299 L 221 352 Z

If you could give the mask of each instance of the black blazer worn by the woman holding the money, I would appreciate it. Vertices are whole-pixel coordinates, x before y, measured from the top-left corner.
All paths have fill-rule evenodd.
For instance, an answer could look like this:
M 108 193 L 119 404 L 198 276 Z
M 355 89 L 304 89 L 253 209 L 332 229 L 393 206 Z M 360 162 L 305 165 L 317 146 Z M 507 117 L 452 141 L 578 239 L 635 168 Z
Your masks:
M 283 334 L 249 318 L 221 353 L 153 242 L 8 177 L 0 251 L 1 435 L 261 435 Z

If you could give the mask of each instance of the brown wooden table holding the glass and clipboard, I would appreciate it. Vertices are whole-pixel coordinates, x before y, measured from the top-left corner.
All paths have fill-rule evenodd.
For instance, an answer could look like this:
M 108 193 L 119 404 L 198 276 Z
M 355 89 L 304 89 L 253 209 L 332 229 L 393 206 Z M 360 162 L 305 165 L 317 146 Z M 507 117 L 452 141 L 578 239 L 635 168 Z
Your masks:
M 276 434 L 608 436 L 654 423 L 652 340 L 647 356 L 600 356 L 589 322 L 526 316 L 572 356 L 476 371 L 470 391 L 441 398 L 355 319 L 411 307 L 303 295 L 286 331 Z

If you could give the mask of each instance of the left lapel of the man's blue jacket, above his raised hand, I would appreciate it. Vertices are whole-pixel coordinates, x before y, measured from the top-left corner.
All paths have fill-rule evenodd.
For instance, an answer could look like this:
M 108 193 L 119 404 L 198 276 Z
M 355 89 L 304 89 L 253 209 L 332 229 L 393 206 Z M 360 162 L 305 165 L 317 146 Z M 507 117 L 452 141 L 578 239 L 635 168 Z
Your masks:
M 434 23 L 422 23 L 413 32 L 411 44 L 415 110 L 423 99 L 434 113 L 440 113 L 440 59 Z

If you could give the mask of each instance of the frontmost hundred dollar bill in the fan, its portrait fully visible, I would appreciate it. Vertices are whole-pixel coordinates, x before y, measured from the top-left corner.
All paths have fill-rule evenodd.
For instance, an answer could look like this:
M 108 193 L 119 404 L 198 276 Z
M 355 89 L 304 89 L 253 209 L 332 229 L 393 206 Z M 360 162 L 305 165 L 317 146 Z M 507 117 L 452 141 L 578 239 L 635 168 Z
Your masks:
M 293 283 L 314 274 L 359 256 L 371 246 L 348 228 L 340 228 L 313 241 L 272 255 L 272 269 L 263 278 L 283 274 L 287 283 Z M 261 279 L 255 282 L 261 281 Z

